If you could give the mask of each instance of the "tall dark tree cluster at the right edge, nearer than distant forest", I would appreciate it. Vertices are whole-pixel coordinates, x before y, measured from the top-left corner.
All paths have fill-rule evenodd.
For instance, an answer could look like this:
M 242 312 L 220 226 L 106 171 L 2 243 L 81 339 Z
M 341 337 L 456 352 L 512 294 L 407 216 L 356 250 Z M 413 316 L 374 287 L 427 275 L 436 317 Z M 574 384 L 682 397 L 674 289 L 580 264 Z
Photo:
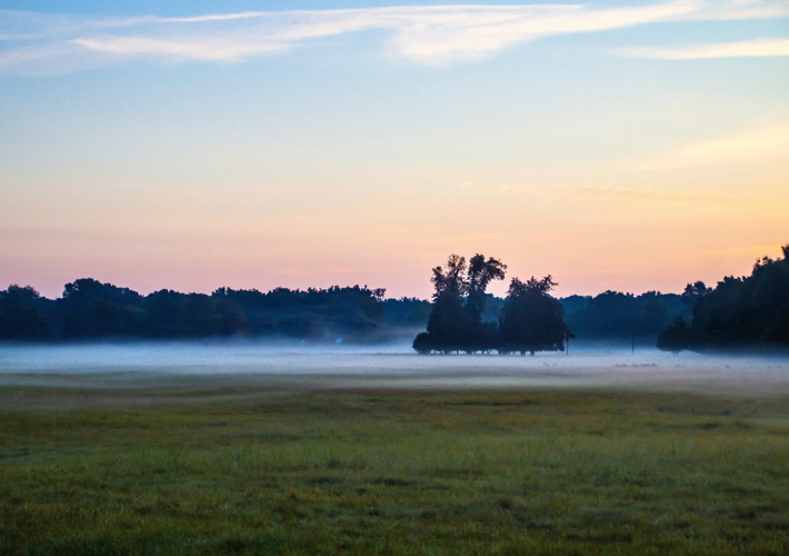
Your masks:
M 688 284 L 692 319 L 677 318 L 658 337 L 661 349 L 789 346 L 789 245 L 783 258 L 763 257 L 750 276 L 727 276 L 715 289 Z

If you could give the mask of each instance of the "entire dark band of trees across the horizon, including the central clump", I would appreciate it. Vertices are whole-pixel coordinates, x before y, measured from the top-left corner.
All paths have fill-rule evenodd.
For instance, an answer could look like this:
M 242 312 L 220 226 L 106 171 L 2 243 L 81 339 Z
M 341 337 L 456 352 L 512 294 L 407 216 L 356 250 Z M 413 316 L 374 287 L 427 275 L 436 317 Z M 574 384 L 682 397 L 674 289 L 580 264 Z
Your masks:
M 219 288 L 211 295 L 160 290 L 143 296 L 91 278 L 67 284 L 62 297 L 48 299 L 30 286 L 12 285 L 0 291 L 0 340 L 249 337 L 382 342 L 410 340 L 422 330 L 415 344 L 422 353 L 560 349 L 573 337 L 657 342 L 675 351 L 788 347 L 789 245 L 782 250 L 782 259 L 758 260 L 749 277 L 726 277 L 715 288 L 689 284 L 681 295 L 605 291 L 555 299 L 550 292 L 556 284 L 549 276 L 515 278 L 502 299 L 486 288 L 503 279 L 506 266 L 480 255 L 469 259 L 469 266 L 476 265 L 471 274 L 465 259 L 460 268 L 458 256 L 436 267 L 431 301 L 386 299 L 384 289 L 367 286 L 268 292 Z M 446 291 L 451 295 L 442 295 Z

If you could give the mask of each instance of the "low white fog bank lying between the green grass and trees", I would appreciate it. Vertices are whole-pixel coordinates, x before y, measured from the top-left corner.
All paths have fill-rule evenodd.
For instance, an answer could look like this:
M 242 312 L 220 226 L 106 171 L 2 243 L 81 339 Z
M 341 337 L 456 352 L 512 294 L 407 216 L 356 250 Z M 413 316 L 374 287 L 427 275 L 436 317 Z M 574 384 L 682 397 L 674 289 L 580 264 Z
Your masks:
M 97 381 L 97 377 L 101 379 Z M 99 344 L 0 346 L 0 385 L 126 386 L 220 377 L 218 384 L 298 387 L 647 387 L 709 393 L 789 394 L 789 357 L 673 355 L 652 347 L 573 342 L 536 356 L 432 355 L 409 342 Z

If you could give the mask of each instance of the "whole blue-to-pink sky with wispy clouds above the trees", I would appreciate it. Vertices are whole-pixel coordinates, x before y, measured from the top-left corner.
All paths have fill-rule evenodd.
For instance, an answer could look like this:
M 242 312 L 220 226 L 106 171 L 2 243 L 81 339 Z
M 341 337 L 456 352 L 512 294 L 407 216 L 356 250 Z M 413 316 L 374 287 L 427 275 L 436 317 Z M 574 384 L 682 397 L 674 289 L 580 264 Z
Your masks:
M 0 0 L 0 288 L 681 292 L 787 207 L 789 0 Z

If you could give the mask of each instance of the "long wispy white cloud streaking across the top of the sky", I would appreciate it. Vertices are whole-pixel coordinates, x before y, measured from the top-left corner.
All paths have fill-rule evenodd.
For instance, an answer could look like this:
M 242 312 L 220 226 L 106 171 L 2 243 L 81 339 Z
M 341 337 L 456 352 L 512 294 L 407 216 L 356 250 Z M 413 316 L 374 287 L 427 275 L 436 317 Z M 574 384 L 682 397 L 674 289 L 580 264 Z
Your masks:
M 682 20 L 777 17 L 789 17 L 785 0 L 670 0 L 619 8 L 595 3 L 418 6 L 128 19 L 0 11 L 0 69 L 47 72 L 46 62 L 64 52 L 74 66 L 74 47 L 90 60 L 88 64 L 96 62 L 90 54 L 103 57 L 106 63 L 130 57 L 243 61 L 371 30 L 383 31 L 383 46 L 396 56 L 441 64 L 477 60 L 559 34 Z M 740 48 L 775 51 L 783 47 Z M 52 66 L 58 67 L 57 62 Z

